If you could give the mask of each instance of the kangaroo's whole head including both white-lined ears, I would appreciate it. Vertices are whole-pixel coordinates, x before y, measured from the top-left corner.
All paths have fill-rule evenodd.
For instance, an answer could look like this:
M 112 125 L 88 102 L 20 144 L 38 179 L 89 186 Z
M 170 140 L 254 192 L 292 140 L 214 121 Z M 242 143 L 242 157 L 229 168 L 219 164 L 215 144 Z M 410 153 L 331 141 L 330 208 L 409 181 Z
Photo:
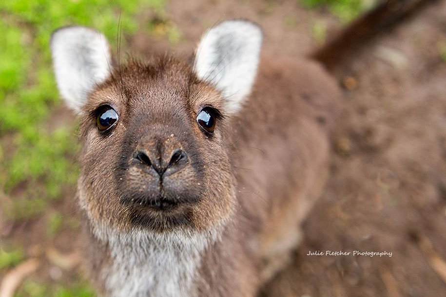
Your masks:
M 250 93 L 261 32 L 228 21 L 193 65 L 173 58 L 113 69 L 104 37 L 67 27 L 52 38 L 60 93 L 81 116 L 78 196 L 93 228 L 206 232 L 237 203 L 230 118 Z

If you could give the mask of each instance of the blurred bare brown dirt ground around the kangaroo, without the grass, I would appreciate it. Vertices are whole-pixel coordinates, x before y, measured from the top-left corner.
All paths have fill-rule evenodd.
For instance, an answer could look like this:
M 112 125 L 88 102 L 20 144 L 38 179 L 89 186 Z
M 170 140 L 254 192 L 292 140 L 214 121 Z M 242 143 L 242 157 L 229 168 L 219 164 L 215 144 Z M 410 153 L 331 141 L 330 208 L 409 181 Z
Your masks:
M 166 18 L 180 29 L 179 44 L 141 30 L 126 37 L 127 50 L 170 49 L 189 56 L 206 28 L 245 18 L 263 27 L 265 55 L 297 57 L 318 46 L 315 24 L 325 22 L 329 37 L 341 27 L 324 9 L 309 11 L 287 0 L 172 0 Z M 338 74 L 347 87 L 327 189 L 305 222 L 305 239 L 290 267 L 262 295 L 446 296 L 446 62 L 439 54 L 440 40 L 446 40 L 446 1 L 378 39 Z M 67 190 L 67 199 L 49 213 L 73 217 L 73 194 L 74 189 Z M 38 278 L 77 278 L 69 272 L 56 278 L 58 256 L 33 250 L 55 246 L 69 254 L 77 228 L 42 242 L 40 223 L 11 226 L 3 239 L 21 242 L 28 254 L 53 259 L 44 261 Z M 392 256 L 307 256 L 328 250 Z

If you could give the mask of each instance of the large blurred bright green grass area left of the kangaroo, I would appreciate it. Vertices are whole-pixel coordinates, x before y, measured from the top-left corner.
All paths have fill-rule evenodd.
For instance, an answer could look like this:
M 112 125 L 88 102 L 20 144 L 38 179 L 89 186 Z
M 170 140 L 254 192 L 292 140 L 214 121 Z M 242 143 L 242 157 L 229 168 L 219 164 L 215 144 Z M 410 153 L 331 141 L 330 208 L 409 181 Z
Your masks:
M 5 211 L 8 219 L 41 213 L 78 175 L 73 121 L 53 123 L 60 100 L 51 66 L 51 33 L 61 26 L 90 26 L 116 47 L 119 30 L 137 29 L 140 9 L 161 14 L 163 7 L 164 0 L 0 1 L 0 185 L 14 196 Z M 177 40 L 179 34 L 169 30 L 169 38 Z

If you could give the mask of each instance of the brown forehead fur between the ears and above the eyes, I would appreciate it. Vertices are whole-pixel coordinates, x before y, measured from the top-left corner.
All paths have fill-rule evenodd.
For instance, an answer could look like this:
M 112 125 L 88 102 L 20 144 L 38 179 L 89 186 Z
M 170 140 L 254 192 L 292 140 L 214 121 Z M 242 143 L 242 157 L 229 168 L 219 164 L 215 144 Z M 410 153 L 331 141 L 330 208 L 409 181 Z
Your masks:
M 200 80 L 192 65 L 172 56 L 158 56 L 148 61 L 131 58 L 116 67 L 90 95 L 83 110 L 90 114 L 102 104 L 111 104 L 118 109 L 143 104 L 157 112 L 172 107 L 196 110 L 211 105 L 225 112 L 220 92 Z

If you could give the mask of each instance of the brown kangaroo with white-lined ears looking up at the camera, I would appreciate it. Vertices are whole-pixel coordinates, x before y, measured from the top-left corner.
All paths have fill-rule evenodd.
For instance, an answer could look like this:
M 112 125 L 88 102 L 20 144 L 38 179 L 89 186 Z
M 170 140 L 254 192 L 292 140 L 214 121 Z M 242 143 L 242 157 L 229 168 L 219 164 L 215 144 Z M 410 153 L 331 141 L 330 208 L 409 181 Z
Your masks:
M 58 89 L 80 117 L 84 263 L 111 297 L 255 296 L 301 240 L 328 178 L 336 80 L 261 54 L 224 21 L 192 63 L 114 63 L 105 37 L 58 29 Z M 332 49 L 330 49 L 332 50 Z

